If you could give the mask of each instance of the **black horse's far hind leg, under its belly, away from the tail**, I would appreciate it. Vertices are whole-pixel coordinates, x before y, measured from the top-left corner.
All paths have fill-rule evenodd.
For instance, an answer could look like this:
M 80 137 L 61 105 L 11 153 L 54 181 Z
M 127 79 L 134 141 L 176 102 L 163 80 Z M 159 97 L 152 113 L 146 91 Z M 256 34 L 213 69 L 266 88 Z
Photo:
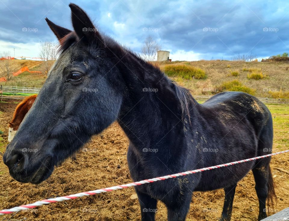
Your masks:
M 224 206 L 223 206 L 223 211 L 222 211 L 220 221 L 230 221 L 231 220 L 236 186 L 237 186 L 237 184 L 224 188 L 225 201 L 224 201 Z

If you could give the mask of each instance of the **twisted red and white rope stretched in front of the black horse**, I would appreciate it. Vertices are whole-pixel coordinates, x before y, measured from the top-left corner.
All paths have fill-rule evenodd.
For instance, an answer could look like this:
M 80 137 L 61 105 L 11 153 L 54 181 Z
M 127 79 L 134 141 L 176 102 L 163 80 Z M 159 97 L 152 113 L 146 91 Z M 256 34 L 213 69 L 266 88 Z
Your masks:
M 186 172 L 183 172 L 183 173 L 176 173 L 176 174 L 167 175 L 167 176 L 161 176 L 161 177 L 157 177 L 157 178 L 153 178 L 153 179 L 145 179 L 145 180 L 141 180 L 141 181 L 138 181 L 138 182 L 123 184 L 123 185 L 118 185 L 118 186 L 112 186 L 112 187 L 108 187 L 108 188 L 104 188 L 104 189 L 92 190 L 92 191 L 77 193 L 77 194 L 73 194 L 73 195 L 69 195 L 69 196 L 50 198 L 50 199 L 47 199 L 47 200 L 41 200 L 41 201 L 37 201 L 37 202 L 32 203 L 32 204 L 26 204 L 26 205 L 22 205 L 22 206 L 19 206 L 19 207 L 13 207 L 11 209 L 0 210 L 0 216 L 1 215 L 5 215 L 5 214 L 9 214 L 9 213 L 18 212 L 20 210 L 28 210 L 28 209 L 31 209 L 31 208 L 39 207 L 39 206 L 42 206 L 42 205 L 47 205 L 47 204 L 50 204 L 50 203 L 61 202 L 61 201 L 64 201 L 64 200 L 75 199 L 75 198 L 79 198 L 79 197 L 83 197 L 83 196 L 95 195 L 97 193 L 109 192 L 109 191 L 123 189 L 123 188 L 128 188 L 128 187 L 132 187 L 132 186 L 136 186 L 136 185 L 142 185 L 142 184 L 145 184 L 145 183 L 152 183 L 152 182 L 156 182 L 156 181 L 159 181 L 159 180 L 175 178 L 177 176 L 185 176 L 185 175 L 192 174 L 192 173 L 203 172 L 205 170 L 212 170 L 212 169 L 216 169 L 216 168 L 220 168 L 220 167 L 227 167 L 227 166 L 231 166 L 231 165 L 238 164 L 238 163 L 244 163 L 244 162 L 251 161 L 251 160 L 257 160 L 257 159 L 270 157 L 270 156 L 277 155 L 277 154 L 283 154 L 283 153 L 286 153 L 286 152 L 289 152 L 289 150 L 280 151 L 280 152 L 273 153 L 273 154 L 267 154 L 267 155 L 259 156 L 259 157 L 253 157 L 253 158 L 249 158 L 249 159 L 246 159 L 246 160 L 239 160 L 239 161 L 235 161 L 235 162 L 231 162 L 231 163 L 220 164 L 220 165 L 213 166 L 213 167 L 205 167 L 205 168 L 198 169 L 198 170 L 190 170 L 190 171 L 186 171 Z

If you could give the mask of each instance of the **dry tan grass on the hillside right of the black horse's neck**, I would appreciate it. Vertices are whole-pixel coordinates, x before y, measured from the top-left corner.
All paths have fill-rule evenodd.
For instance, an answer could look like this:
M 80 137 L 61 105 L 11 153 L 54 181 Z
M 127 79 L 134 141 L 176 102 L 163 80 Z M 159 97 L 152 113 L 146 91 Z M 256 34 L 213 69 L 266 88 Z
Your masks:
M 179 62 L 174 64 L 182 64 L 184 62 Z M 204 70 L 207 74 L 205 80 L 191 79 L 187 80 L 184 78 L 171 77 L 179 85 L 191 89 L 193 95 L 200 95 L 204 93 L 204 88 L 206 91 L 215 91 L 216 86 L 219 86 L 224 81 L 232 81 L 236 79 L 232 76 L 227 67 L 228 64 L 234 67 L 234 70 L 238 70 L 240 75 L 238 80 L 243 86 L 247 86 L 251 89 L 256 90 L 255 96 L 257 97 L 271 97 L 269 90 L 282 90 L 289 91 L 289 77 L 288 71 L 285 67 L 288 66 L 286 62 L 244 62 L 244 61 L 191 61 L 190 65 L 198 67 Z M 169 62 L 160 62 L 159 66 L 163 70 L 163 67 Z M 247 73 L 242 72 L 243 68 L 262 70 L 262 73 L 266 76 L 262 80 L 253 80 L 247 78 Z M 206 94 L 210 94 L 207 92 Z M 289 98 L 289 97 L 288 97 Z

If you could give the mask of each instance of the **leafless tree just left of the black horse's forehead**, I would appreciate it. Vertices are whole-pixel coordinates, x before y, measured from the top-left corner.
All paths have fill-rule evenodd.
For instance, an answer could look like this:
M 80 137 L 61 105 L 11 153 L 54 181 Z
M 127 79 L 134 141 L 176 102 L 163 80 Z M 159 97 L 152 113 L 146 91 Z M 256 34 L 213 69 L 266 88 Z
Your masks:
M 39 56 L 44 61 L 44 72 L 47 74 L 51 67 L 49 60 L 56 59 L 56 45 L 53 42 L 40 42 Z

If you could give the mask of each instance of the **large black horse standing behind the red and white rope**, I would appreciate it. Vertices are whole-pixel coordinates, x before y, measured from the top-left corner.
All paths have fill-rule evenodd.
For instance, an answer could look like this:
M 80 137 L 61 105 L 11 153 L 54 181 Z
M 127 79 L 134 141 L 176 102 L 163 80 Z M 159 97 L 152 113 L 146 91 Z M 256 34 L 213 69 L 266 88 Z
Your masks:
M 81 8 L 70 8 L 74 31 L 46 18 L 60 56 L 3 156 L 14 179 L 44 181 L 115 120 L 130 140 L 134 181 L 271 153 L 272 117 L 257 98 L 225 92 L 198 104 L 157 67 L 101 34 Z M 237 182 L 250 170 L 263 219 L 266 199 L 275 198 L 269 163 L 268 157 L 136 186 L 142 220 L 154 220 L 157 200 L 168 220 L 185 220 L 193 191 L 218 188 L 225 190 L 221 220 L 230 220 Z

